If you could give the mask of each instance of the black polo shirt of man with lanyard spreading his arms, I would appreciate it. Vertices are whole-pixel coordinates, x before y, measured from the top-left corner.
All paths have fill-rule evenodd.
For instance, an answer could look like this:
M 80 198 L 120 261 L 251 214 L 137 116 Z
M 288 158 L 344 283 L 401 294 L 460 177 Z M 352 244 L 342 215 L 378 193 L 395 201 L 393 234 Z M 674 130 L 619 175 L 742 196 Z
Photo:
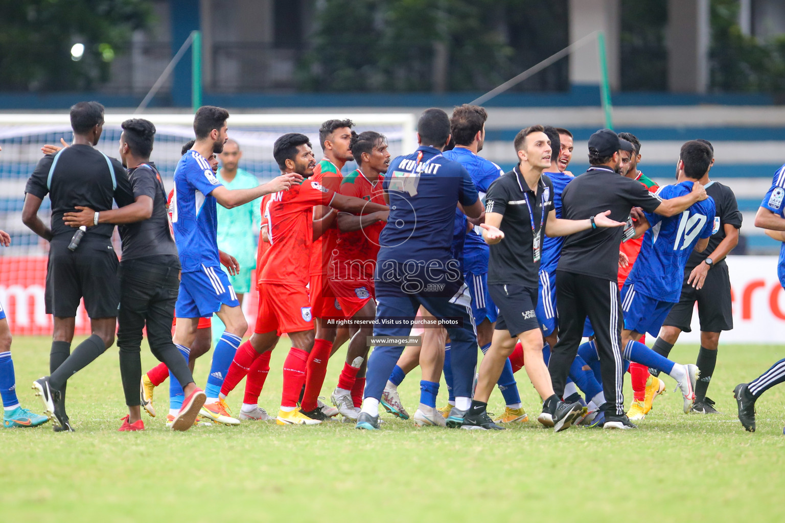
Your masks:
M 540 176 L 536 194 L 518 173 L 517 167 L 491 183 L 485 195 L 485 212 L 504 215 L 498 227 L 504 238 L 491 245 L 489 284 L 514 283 L 537 289 L 540 263 L 539 260 L 534 261 L 534 238 L 535 234 L 539 234 L 542 252 L 542 236 L 550 209 L 553 209 L 553 183 L 548 176 Z

